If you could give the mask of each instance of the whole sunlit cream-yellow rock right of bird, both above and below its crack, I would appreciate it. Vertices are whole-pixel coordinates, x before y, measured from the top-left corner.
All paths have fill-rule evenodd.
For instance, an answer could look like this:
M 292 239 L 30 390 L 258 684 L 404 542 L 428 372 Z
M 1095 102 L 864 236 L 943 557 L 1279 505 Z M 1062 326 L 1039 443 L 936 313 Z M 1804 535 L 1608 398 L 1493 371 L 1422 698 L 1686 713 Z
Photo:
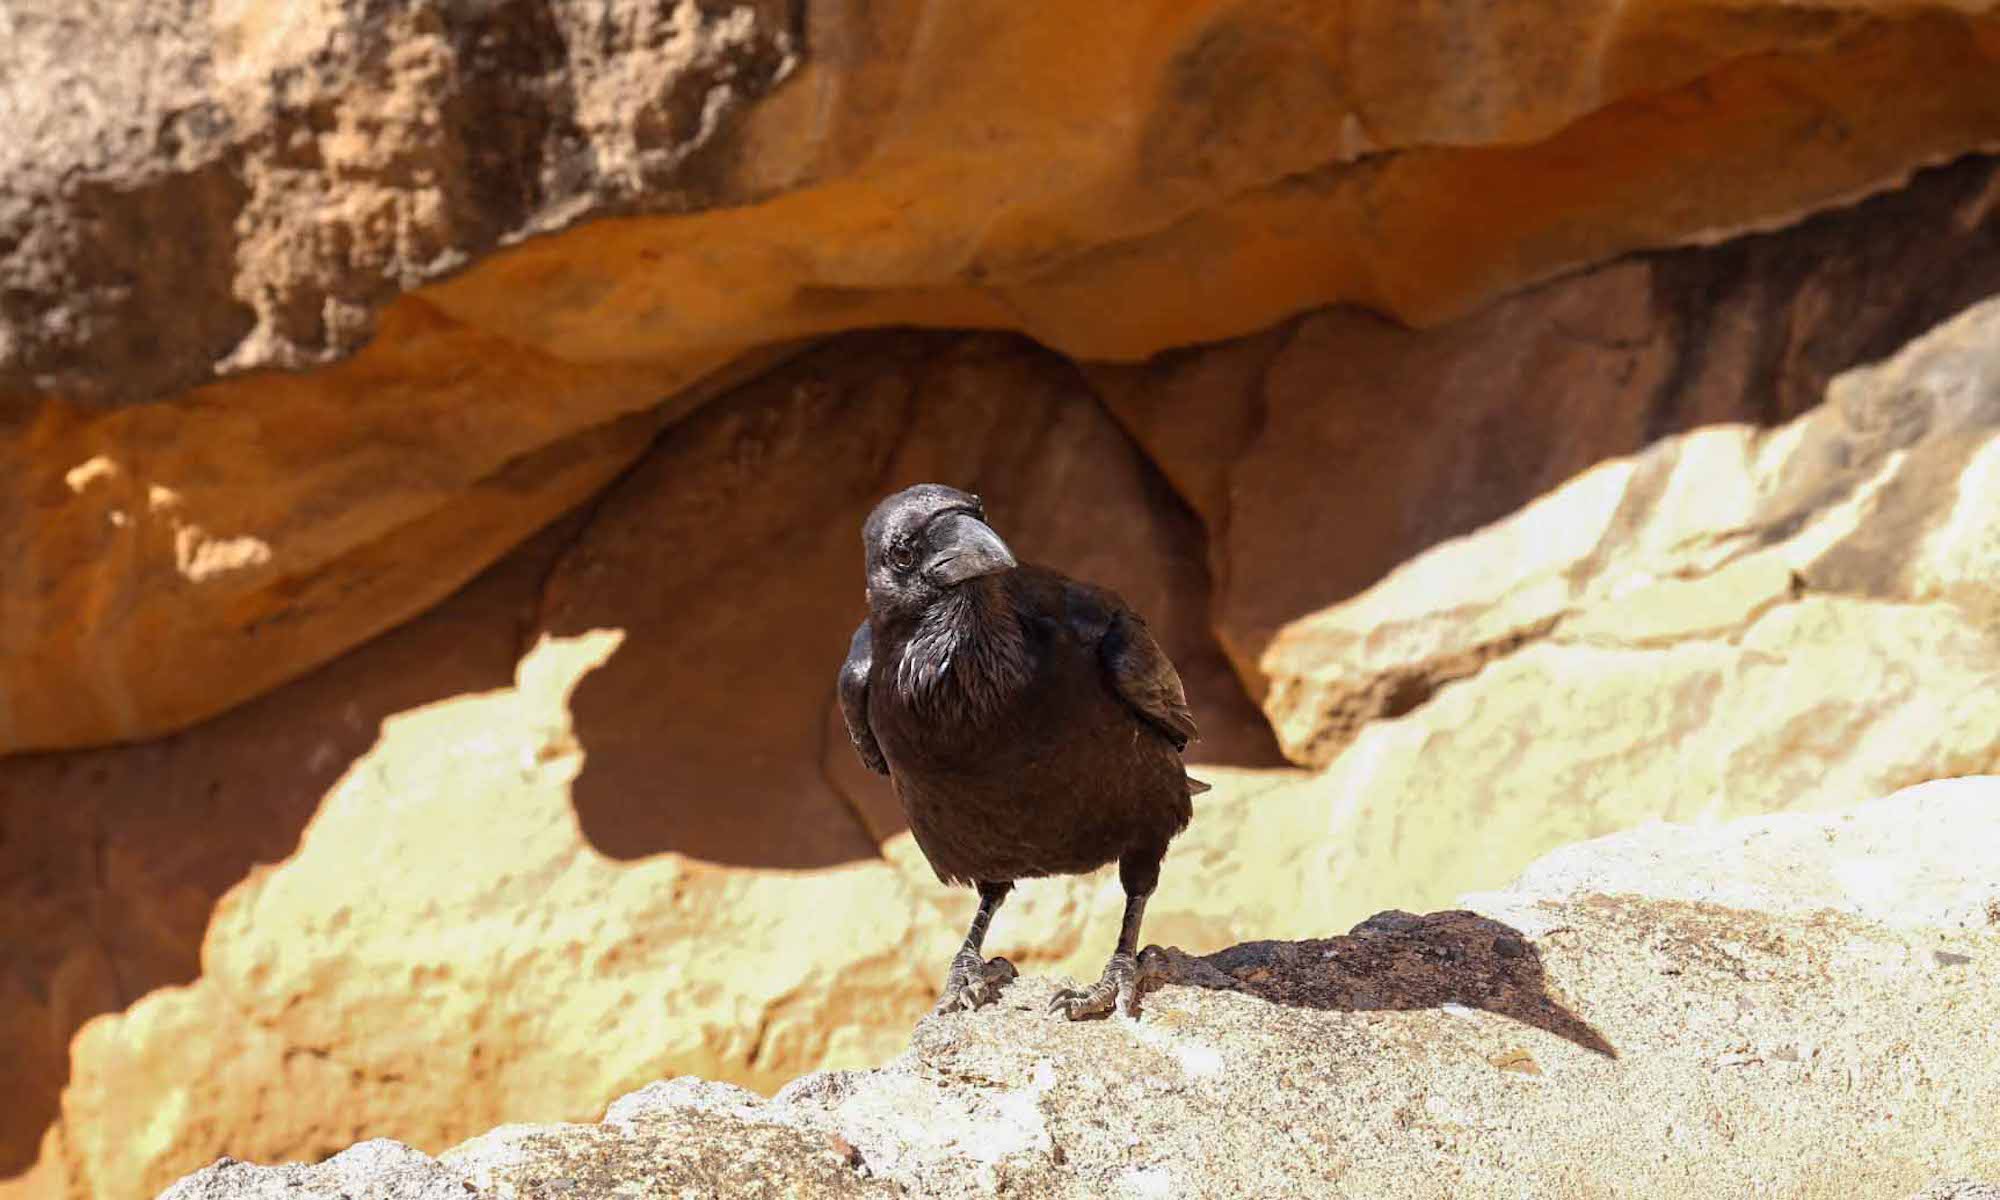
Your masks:
M 1354 918 L 1650 818 L 2000 770 L 1996 346 L 1978 304 L 1788 426 L 1666 438 L 1286 626 L 1266 712 L 1324 766 L 1272 800 L 1314 836 L 1258 852 Z

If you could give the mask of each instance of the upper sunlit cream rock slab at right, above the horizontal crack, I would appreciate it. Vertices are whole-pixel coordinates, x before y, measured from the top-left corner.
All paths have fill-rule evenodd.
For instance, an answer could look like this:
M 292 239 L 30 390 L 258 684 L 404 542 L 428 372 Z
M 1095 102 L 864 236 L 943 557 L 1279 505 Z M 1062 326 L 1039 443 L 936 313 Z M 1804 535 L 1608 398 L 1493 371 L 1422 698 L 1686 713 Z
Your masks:
M 1884 628 L 1978 640 L 2000 612 L 1996 336 L 2000 304 L 1978 304 L 1836 378 L 1788 426 L 1704 428 L 1604 462 L 1292 622 L 1264 654 L 1278 736 L 1324 762 L 1368 718 L 1406 708 L 1398 690 L 1422 702 L 1538 642 L 1670 654 L 1884 604 L 1924 606 L 1882 612 Z

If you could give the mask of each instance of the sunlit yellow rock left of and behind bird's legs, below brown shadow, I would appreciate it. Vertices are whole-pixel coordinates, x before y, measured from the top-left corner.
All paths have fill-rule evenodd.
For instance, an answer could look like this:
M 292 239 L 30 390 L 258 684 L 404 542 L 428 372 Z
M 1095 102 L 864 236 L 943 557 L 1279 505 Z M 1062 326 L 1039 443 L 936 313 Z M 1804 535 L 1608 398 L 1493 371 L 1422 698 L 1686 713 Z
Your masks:
M 220 900 L 202 978 L 78 1034 L 70 1190 L 46 1194 L 150 1196 L 224 1150 L 316 1158 L 388 1130 L 442 1148 L 588 1116 L 660 1074 L 772 1088 L 894 1054 L 970 898 L 912 864 L 906 834 L 898 868 L 600 854 L 570 796 L 588 748 L 562 696 L 614 642 L 544 642 L 518 686 L 388 720 L 300 850 Z M 1270 928 L 1288 880 L 1228 886 L 1262 780 L 1210 774 L 1240 800 L 1216 798 L 1176 850 L 1152 928 L 1216 946 Z M 1114 876 L 1034 884 L 992 948 L 1096 970 L 1116 912 Z

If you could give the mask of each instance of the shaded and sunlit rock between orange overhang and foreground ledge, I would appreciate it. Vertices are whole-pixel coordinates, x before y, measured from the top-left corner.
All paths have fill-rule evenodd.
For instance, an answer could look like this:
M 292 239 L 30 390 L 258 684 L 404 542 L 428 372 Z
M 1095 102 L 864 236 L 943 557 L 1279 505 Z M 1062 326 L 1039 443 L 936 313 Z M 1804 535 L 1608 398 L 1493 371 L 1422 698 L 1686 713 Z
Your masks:
M 0 844 L 0 1132 L 40 1164 L 12 1186 L 146 1196 L 222 1150 L 436 1150 L 666 1074 L 888 1056 L 966 904 L 830 738 L 854 528 L 900 480 L 976 482 L 1024 552 L 1154 614 L 1218 792 L 1150 930 L 1196 952 L 1650 816 L 1994 770 L 1990 180 L 1420 334 L 1336 310 L 1086 368 L 854 334 L 630 418 L 616 486 L 434 612 L 196 730 L 0 764 L 32 830 Z M 1342 432 L 1370 360 L 1402 424 Z M 1462 408 L 1414 408 L 1452 380 Z M 994 950 L 1084 970 L 1114 904 L 1026 888 Z

